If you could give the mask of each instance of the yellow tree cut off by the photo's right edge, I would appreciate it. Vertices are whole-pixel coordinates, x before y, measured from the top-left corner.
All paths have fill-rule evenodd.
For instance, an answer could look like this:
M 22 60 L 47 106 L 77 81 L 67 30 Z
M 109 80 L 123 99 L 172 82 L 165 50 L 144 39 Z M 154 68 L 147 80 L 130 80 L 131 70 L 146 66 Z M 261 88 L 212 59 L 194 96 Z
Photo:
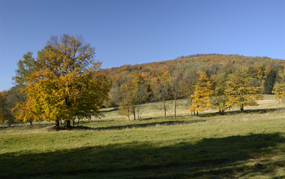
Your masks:
M 279 81 L 274 85 L 272 93 L 278 103 L 285 103 L 285 69 L 278 72 Z

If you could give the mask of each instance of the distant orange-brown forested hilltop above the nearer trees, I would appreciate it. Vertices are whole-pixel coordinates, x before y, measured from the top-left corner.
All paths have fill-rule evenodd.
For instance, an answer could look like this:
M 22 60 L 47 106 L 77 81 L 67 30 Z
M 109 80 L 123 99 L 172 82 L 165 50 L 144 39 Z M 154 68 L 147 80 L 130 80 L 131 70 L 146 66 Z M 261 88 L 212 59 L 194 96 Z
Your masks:
M 150 62 L 136 65 L 123 65 L 102 69 L 112 81 L 125 77 L 129 74 L 141 74 L 144 77 L 162 78 L 173 71 L 183 71 L 187 68 L 193 68 L 206 72 L 210 77 L 213 74 L 227 72 L 234 73 L 241 67 L 248 67 L 249 73 L 253 78 L 262 78 L 267 72 L 274 68 L 280 70 L 285 67 L 285 61 L 280 59 L 272 59 L 266 56 L 252 57 L 237 54 L 196 54 L 188 56 L 180 56 L 174 60 L 166 60 L 161 62 Z

